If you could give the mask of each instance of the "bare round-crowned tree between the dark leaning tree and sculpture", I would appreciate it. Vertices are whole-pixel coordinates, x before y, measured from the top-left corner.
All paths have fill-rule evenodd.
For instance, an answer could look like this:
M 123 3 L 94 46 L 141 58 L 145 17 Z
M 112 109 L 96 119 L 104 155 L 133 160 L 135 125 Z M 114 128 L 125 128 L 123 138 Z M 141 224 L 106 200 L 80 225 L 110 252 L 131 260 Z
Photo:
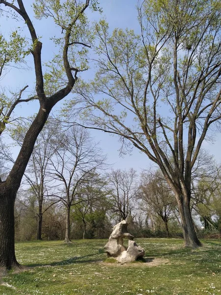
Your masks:
M 56 181 L 57 197 L 66 209 L 66 230 L 64 242 L 70 240 L 70 209 L 82 203 L 79 198 L 83 183 L 99 182 L 96 170 L 102 169 L 105 157 L 96 143 L 92 142 L 87 130 L 73 126 L 62 132 L 54 143 L 54 157 L 51 159 L 51 175 Z

